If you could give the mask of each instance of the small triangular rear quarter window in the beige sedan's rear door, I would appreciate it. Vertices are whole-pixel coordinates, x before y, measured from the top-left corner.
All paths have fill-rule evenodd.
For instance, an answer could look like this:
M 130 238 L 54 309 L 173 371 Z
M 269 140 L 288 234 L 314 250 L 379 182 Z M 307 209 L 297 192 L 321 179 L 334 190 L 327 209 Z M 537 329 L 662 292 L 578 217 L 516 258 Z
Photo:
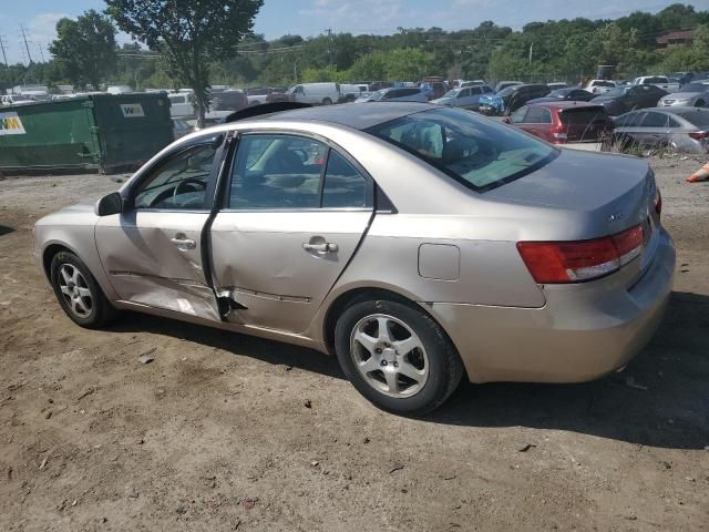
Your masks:
M 371 207 L 372 186 L 342 155 L 330 151 L 322 187 L 322 207 Z

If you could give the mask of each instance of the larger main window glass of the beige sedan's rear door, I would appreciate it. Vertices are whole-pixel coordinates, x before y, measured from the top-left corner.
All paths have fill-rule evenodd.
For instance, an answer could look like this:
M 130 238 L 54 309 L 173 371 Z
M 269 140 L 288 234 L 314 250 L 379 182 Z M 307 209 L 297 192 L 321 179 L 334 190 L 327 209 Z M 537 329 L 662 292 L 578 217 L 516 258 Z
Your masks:
M 229 208 L 318 208 L 327 155 L 321 142 L 289 135 L 245 135 L 239 142 Z

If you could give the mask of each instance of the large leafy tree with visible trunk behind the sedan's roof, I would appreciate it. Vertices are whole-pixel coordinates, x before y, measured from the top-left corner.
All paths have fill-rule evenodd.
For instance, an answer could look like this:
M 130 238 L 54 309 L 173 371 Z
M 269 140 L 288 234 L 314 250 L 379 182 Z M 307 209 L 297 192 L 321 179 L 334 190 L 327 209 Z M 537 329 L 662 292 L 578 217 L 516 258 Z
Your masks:
M 160 51 L 167 74 L 194 90 L 199 125 L 209 104 L 209 63 L 232 58 L 264 0 L 106 0 L 117 27 Z

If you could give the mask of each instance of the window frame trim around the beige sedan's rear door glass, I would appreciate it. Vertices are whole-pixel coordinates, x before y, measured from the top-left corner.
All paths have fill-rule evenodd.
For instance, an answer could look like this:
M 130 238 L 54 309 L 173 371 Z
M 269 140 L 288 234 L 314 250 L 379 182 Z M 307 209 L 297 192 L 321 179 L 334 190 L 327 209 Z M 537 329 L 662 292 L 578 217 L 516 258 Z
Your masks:
M 371 207 L 325 207 L 325 208 L 316 208 L 315 211 L 317 212 L 323 212 L 323 211 L 348 211 L 348 209 L 360 209 L 360 211 L 367 211 L 367 212 L 379 212 L 378 211 L 378 203 L 377 203 L 377 198 L 379 197 L 379 194 L 381 194 L 381 188 L 379 187 L 379 185 L 377 184 L 377 182 L 374 181 L 374 178 L 371 176 L 371 174 L 369 172 L 367 172 L 367 170 L 364 170 L 364 167 L 343 147 L 341 147 L 339 144 L 337 144 L 336 142 L 331 141 L 330 139 L 327 139 L 322 135 L 319 135 L 317 133 L 312 133 L 312 132 L 308 132 L 308 131 L 302 131 L 302 130 L 281 130 L 281 129 L 264 129 L 264 127 L 253 127 L 253 129 L 244 129 L 244 130 L 236 130 L 235 132 L 235 137 L 236 137 L 236 142 L 234 143 L 234 149 L 232 151 L 230 154 L 228 154 L 229 156 L 229 161 L 228 164 L 225 165 L 225 172 L 228 173 L 228 175 L 225 178 L 225 187 L 222 191 L 222 197 L 218 198 L 218 205 L 219 205 L 219 211 L 220 212 L 225 212 L 225 213 L 246 213 L 246 212 L 258 212 L 258 213 L 269 213 L 269 212 L 304 212 L 306 209 L 304 208 L 286 208 L 286 209 L 273 209 L 273 208 L 258 208 L 258 209 L 239 209 L 239 208 L 230 208 L 228 201 L 229 201 L 229 191 L 232 190 L 232 180 L 234 177 L 234 164 L 236 162 L 236 154 L 238 152 L 239 145 L 242 144 L 242 140 L 244 139 L 244 136 L 254 136 L 254 135 L 265 135 L 265 136 L 273 136 L 273 135 L 285 135 L 285 136 L 299 136 L 299 137 L 304 137 L 310 141 L 317 141 L 320 142 L 322 144 L 325 144 L 328 147 L 328 151 L 326 153 L 327 156 L 327 161 L 329 161 L 330 158 L 330 150 L 335 150 L 339 155 L 342 156 L 342 158 L 345 158 L 348 163 L 350 163 L 352 165 L 352 167 L 362 176 L 364 177 L 367 185 L 369 186 L 369 193 L 371 194 L 372 197 L 372 206 Z M 326 161 L 326 163 L 327 163 Z M 322 170 L 320 173 L 320 186 L 323 185 L 325 182 L 325 172 L 327 172 L 327 164 L 322 165 Z M 393 204 L 391 203 L 391 201 L 387 197 L 386 200 L 387 203 L 387 209 L 386 212 L 390 212 L 393 211 L 395 212 L 395 206 L 393 206 Z M 322 205 L 322 193 L 320 193 L 320 205 Z M 391 208 L 389 208 L 389 206 L 391 206 Z

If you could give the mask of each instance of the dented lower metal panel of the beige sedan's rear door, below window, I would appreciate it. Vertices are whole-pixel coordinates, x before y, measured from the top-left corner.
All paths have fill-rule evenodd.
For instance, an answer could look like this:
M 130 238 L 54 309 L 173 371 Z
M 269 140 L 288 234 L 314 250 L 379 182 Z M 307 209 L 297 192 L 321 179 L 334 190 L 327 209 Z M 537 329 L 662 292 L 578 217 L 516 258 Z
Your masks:
M 238 307 L 228 319 L 306 330 L 371 216 L 369 209 L 219 213 L 212 226 L 212 256 L 217 291 Z

